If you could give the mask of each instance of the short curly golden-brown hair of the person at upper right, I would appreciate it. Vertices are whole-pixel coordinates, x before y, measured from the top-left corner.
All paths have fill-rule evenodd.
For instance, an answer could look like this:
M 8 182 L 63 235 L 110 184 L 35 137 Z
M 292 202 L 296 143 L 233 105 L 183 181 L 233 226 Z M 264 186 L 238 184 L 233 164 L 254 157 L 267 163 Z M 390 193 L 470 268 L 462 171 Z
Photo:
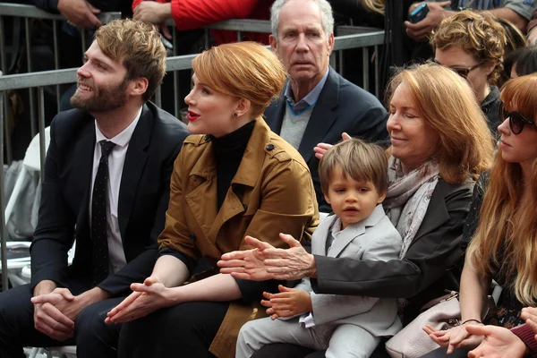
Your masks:
M 489 74 L 490 83 L 499 80 L 506 43 L 506 31 L 494 16 L 472 10 L 447 17 L 430 38 L 434 49 L 447 50 L 459 46 L 478 62 L 493 62 L 495 66 Z

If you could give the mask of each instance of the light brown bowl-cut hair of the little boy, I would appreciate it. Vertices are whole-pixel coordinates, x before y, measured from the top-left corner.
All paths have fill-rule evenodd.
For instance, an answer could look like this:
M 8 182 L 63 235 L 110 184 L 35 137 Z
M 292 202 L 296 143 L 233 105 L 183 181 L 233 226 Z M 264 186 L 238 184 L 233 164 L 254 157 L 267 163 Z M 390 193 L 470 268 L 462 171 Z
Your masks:
M 320 189 L 324 194 L 328 194 L 337 168 L 357 182 L 373 183 L 380 194 L 388 191 L 388 156 L 377 144 L 353 138 L 328 149 L 319 164 Z

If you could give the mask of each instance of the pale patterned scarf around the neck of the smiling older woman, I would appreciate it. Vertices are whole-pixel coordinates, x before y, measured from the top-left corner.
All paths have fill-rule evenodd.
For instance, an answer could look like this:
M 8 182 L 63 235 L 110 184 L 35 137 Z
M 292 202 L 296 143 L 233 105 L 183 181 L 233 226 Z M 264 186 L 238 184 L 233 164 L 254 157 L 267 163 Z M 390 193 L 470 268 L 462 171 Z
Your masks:
M 383 205 L 387 209 L 386 215 L 403 238 L 399 259 L 405 257 L 422 225 L 430 197 L 438 182 L 439 164 L 435 159 L 423 163 L 406 175 L 403 174 L 399 159 L 389 159 L 388 194 Z

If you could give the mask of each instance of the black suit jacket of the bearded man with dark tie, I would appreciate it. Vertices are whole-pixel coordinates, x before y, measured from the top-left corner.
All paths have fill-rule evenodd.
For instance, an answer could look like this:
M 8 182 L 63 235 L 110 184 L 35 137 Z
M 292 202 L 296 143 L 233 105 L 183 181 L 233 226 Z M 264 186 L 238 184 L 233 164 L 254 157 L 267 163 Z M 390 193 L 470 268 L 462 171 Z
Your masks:
M 170 176 L 188 136 L 186 126 L 152 103 L 143 106 L 127 149 L 119 189 L 118 221 L 127 265 L 98 286 L 113 296 L 151 273 L 157 237 L 166 221 Z M 38 226 L 31 244 L 31 284 L 53 280 L 79 290 L 91 287 L 89 205 L 95 120 L 72 109 L 55 116 L 43 176 Z M 67 251 L 76 237 L 72 265 Z

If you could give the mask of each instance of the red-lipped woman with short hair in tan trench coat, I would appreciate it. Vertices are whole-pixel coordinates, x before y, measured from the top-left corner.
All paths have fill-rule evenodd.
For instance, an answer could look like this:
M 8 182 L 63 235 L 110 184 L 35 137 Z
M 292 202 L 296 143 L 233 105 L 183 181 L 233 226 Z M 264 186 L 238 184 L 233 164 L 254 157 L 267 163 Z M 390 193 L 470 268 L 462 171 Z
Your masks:
M 308 166 L 261 118 L 285 81 L 277 57 L 241 42 L 203 52 L 192 68 L 185 102 L 198 135 L 175 160 L 153 273 L 108 313 L 107 322 L 129 322 L 119 357 L 234 357 L 239 329 L 264 316 L 262 291 L 274 283 L 234 279 L 213 265 L 247 249 L 245 235 L 282 247 L 279 233 L 310 240 L 319 221 Z

